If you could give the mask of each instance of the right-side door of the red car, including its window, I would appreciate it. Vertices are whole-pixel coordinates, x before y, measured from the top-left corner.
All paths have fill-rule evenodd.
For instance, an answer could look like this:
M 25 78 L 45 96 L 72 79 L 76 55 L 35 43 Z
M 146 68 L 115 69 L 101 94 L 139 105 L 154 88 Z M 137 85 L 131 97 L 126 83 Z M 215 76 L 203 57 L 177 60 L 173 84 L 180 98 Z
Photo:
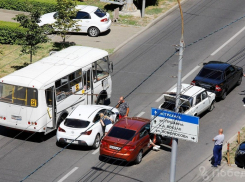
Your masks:
M 144 125 L 139 132 L 139 150 L 143 149 L 143 153 L 148 150 L 149 142 L 150 142 L 150 135 L 149 135 L 149 128 L 150 123 Z

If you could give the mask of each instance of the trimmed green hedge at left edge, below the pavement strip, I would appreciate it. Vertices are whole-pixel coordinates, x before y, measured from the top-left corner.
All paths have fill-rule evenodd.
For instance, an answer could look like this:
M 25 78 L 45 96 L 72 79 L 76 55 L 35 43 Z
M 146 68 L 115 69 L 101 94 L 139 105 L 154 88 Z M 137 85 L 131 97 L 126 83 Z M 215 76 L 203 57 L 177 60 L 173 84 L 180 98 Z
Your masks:
M 20 37 L 25 31 L 19 23 L 0 21 L 0 43 L 20 44 Z

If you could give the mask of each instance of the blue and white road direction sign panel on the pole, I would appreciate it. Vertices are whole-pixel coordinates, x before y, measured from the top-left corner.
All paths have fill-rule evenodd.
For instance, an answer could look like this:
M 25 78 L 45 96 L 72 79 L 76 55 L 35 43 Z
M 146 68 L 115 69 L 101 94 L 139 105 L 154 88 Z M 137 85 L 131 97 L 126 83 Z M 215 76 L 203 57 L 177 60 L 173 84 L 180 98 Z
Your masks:
M 151 133 L 198 142 L 199 118 L 187 114 L 151 109 Z

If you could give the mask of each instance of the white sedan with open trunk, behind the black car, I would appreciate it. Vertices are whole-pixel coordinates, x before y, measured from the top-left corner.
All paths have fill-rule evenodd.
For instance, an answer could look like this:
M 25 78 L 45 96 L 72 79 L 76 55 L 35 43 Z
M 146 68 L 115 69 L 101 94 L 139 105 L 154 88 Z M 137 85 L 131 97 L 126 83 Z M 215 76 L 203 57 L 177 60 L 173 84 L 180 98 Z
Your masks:
M 170 92 L 163 94 L 164 102 L 159 106 L 160 109 L 175 111 L 176 100 L 175 87 Z M 208 92 L 206 89 L 190 84 L 182 84 L 180 96 L 179 112 L 198 116 L 204 111 L 212 111 L 214 109 L 215 94 Z

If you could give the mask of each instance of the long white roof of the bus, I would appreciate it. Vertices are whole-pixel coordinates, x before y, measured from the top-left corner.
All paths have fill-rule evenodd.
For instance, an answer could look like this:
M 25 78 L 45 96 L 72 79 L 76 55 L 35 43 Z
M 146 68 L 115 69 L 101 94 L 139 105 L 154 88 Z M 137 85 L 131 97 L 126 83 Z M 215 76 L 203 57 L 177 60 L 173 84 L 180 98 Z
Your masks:
M 71 46 L 15 71 L 0 81 L 40 89 L 107 55 L 108 53 L 101 49 Z

